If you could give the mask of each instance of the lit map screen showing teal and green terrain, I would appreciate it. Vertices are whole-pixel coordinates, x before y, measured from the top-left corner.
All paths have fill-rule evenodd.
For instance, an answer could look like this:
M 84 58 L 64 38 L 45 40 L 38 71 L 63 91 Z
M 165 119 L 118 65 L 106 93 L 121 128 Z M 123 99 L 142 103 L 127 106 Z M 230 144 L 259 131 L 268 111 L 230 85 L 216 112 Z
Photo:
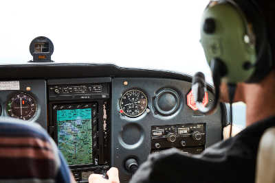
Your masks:
M 56 110 L 58 148 L 69 165 L 92 164 L 92 108 Z

